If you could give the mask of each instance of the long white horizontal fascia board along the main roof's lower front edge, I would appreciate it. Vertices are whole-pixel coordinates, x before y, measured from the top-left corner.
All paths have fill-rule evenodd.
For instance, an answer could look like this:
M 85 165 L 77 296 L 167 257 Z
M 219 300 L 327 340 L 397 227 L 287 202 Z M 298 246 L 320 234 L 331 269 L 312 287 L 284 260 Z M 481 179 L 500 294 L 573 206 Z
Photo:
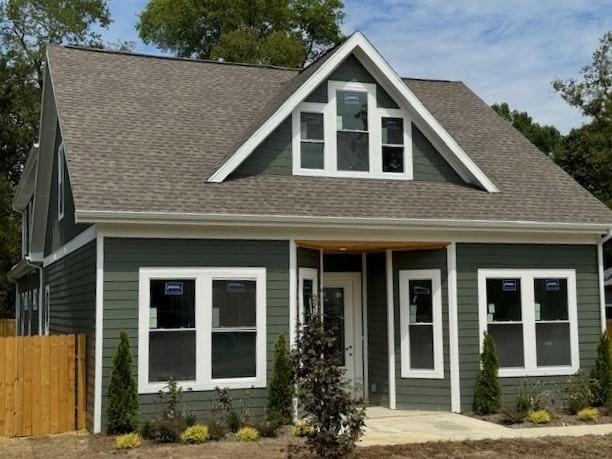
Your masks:
M 319 217 L 301 215 L 253 215 L 253 214 L 196 214 L 80 210 L 76 211 L 76 223 L 135 223 L 135 224 L 180 224 L 180 225 L 231 225 L 253 226 L 311 226 L 311 227 L 354 227 L 366 228 L 457 228 L 499 231 L 543 231 L 603 234 L 612 227 L 596 223 L 559 223 L 528 220 L 458 220 L 419 218 L 370 218 L 370 217 Z

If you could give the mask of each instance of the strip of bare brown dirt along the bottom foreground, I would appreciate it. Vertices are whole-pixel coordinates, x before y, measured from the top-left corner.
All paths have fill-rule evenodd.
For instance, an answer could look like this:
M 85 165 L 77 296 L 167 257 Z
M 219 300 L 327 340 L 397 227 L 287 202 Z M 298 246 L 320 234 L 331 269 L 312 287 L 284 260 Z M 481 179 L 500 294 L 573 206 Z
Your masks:
M 297 450 L 297 451 L 296 451 Z M 114 438 L 89 434 L 64 434 L 38 438 L 0 439 L 3 459 L 62 458 L 97 459 L 128 457 L 146 459 L 178 458 L 308 458 L 302 442 L 293 437 L 262 439 L 256 443 L 209 442 L 204 445 L 161 445 L 145 442 L 130 451 L 114 448 Z M 612 435 L 546 437 L 539 439 L 438 442 L 358 448 L 356 459 L 382 458 L 593 458 L 612 457 Z

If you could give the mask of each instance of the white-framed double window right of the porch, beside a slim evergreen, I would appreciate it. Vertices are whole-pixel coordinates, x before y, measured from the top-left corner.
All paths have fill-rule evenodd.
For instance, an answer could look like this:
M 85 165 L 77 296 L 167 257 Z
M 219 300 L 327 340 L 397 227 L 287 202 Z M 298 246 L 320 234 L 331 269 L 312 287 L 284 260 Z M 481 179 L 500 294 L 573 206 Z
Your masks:
M 480 346 L 483 333 L 489 333 L 499 376 L 578 371 L 575 270 L 479 269 L 478 302 Z

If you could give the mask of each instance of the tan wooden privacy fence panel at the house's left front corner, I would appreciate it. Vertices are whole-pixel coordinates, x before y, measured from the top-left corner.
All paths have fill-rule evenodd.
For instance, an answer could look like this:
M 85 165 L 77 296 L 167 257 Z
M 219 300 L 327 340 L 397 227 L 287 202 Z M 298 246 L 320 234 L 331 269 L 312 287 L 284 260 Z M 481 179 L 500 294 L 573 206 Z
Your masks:
M 0 436 L 85 428 L 85 335 L 0 338 Z

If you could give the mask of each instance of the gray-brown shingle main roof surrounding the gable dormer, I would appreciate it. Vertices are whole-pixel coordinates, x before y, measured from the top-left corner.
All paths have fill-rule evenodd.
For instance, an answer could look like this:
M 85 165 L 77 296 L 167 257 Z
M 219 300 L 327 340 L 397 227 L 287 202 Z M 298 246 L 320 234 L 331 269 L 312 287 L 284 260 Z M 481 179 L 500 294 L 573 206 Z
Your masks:
M 78 211 L 470 219 L 612 226 L 612 212 L 460 82 L 408 87 L 500 193 L 451 183 L 206 179 L 308 72 L 49 48 Z

